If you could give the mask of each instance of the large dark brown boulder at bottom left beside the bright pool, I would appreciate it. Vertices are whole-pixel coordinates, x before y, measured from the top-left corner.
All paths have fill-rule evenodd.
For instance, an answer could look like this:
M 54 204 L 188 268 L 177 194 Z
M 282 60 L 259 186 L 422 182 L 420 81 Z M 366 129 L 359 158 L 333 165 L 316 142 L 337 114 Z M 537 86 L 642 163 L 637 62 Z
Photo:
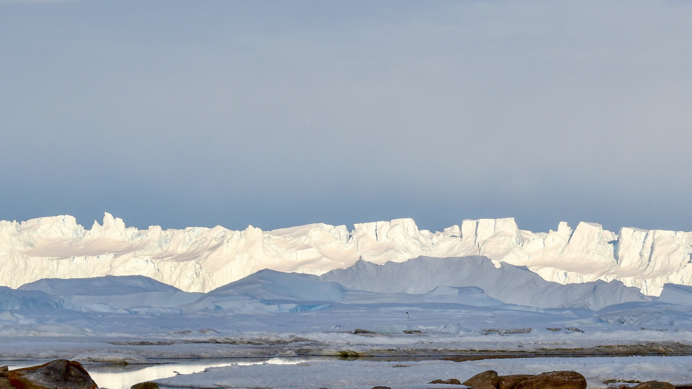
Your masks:
M 96 389 L 96 383 L 82 364 L 67 359 L 10 370 L 7 378 L 19 389 Z

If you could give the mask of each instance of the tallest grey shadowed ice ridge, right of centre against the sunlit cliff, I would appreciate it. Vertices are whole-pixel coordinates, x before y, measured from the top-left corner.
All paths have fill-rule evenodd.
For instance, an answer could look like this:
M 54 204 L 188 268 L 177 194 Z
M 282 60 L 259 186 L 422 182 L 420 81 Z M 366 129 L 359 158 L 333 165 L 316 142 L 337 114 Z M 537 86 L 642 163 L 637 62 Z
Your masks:
M 626 301 L 650 301 L 633 287 L 619 281 L 561 285 L 545 281 L 525 267 L 500 263 L 488 258 L 419 257 L 404 263 L 376 265 L 363 260 L 348 269 L 336 269 L 320 276 L 358 290 L 422 294 L 439 286 L 480 287 L 485 294 L 504 303 L 532 307 L 586 307 L 599 310 Z

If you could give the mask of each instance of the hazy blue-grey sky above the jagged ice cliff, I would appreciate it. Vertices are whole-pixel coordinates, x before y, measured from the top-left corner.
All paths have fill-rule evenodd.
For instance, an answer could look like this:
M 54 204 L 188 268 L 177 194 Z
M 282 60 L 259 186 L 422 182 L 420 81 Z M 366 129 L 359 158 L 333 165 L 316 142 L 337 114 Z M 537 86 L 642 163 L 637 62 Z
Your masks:
M 0 220 L 692 231 L 692 2 L 0 0 Z

